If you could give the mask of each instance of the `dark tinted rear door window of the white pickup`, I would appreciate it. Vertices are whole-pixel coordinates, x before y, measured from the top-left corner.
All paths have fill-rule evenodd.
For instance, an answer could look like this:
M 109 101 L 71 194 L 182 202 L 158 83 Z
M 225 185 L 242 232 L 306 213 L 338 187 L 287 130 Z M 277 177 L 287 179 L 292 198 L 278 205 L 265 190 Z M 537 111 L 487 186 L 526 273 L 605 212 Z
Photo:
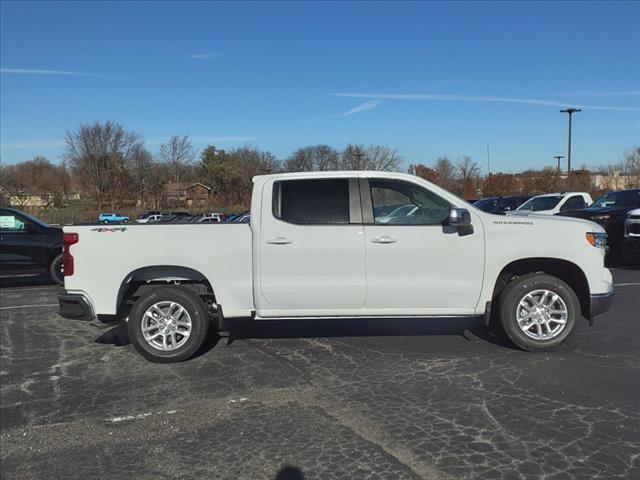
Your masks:
M 273 190 L 273 215 L 298 225 L 349 223 L 349 180 L 284 180 Z

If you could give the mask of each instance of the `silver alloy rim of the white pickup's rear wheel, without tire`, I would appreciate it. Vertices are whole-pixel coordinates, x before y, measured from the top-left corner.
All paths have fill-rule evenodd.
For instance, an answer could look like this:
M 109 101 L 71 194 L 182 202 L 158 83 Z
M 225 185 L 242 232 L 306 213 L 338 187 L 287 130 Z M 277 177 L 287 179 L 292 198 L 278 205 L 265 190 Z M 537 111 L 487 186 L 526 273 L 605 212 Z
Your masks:
M 151 305 L 141 322 L 142 335 L 157 350 L 177 350 L 191 335 L 191 317 L 176 302 L 158 302 Z

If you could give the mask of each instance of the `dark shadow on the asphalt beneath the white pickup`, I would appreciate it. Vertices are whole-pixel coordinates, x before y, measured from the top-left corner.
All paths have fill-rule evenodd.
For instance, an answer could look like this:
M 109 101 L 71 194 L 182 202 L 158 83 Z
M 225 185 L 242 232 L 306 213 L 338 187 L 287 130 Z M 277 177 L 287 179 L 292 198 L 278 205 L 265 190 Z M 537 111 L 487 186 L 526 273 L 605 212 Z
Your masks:
M 228 336 L 220 336 L 212 331 L 192 358 L 209 352 L 219 343 L 231 345 L 239 340 L 440 335 L 461 337 L 467 342 L 479 339 L 503 348 L 517 349 L 504 334 L 496 334 L 484 327 L 480 318 L 275 319 L 235 321 L 231 324 Z M 130 344 L 127 330 L 122 324 L 113 326 L 95 342 L 116 347 Z

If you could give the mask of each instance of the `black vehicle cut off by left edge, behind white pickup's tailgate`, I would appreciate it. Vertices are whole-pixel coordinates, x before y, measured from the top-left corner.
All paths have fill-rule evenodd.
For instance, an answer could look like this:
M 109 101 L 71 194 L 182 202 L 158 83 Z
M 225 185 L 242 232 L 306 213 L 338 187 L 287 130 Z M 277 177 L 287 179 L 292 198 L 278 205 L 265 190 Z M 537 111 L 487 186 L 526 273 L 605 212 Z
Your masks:
M 0 208 L 0 273 L 62 275 L 62 229 L 13 208 Z

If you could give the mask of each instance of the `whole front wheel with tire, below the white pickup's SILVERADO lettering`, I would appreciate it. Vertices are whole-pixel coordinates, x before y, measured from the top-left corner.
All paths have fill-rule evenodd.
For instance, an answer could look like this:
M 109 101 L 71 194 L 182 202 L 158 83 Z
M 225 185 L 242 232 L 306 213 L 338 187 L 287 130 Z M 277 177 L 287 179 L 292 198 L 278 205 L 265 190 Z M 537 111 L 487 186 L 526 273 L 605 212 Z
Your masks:
M 571 335 L 580 302 L 566 282 L 534 273 L 511 281 L 499 300 L 500 322 L 507 336 L 529 352 L 553 350 Z

